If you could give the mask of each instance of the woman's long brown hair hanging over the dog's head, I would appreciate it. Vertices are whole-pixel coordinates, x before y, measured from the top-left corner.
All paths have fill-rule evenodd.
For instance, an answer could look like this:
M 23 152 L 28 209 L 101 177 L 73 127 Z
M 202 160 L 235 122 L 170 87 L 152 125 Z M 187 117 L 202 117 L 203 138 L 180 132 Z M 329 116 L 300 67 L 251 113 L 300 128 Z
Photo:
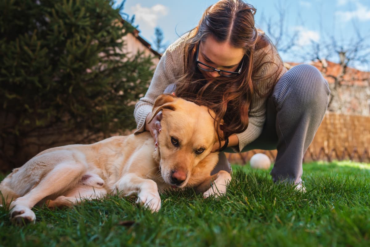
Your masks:
M 197 27 L 189 31 L 184 48 L 184 75 L 176 86 L 176 96 L 205 105 L 216 113 L 218 136 L 226 139 L 248 127 L 248 111 L 255 92 L 252 76 L 258 71 L 253 64 L 255 50 L 270 44 L 267 37 L 255 28 L 256 9 L 242 0 L 221 0 L 208 7 Z M 212 36 L 218 42 L 229 42 L 243 48 L 243 67 L 235 77 L 205 78 L 195 63 L 195 52 L 200 41 Z M 258 67 L 262 66 L 259 64 Z M 208 79 L 208 80 L 207 80 Z M 223 135 L 221 134 L 221 131 Z

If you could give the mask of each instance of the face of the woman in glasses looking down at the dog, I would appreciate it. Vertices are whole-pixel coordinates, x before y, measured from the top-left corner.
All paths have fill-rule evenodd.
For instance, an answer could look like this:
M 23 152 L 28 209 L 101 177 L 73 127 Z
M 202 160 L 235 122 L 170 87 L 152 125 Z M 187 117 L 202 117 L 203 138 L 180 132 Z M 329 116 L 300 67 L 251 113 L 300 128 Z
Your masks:
M 198 60 L 219 70 L 235 71 L 244 56 L 243 48 L 231 46 L 227 41 L 220 43 L 212 36 L 199 44 Z M 199 70 L 205 77 L 219 77 L 217 71 Z

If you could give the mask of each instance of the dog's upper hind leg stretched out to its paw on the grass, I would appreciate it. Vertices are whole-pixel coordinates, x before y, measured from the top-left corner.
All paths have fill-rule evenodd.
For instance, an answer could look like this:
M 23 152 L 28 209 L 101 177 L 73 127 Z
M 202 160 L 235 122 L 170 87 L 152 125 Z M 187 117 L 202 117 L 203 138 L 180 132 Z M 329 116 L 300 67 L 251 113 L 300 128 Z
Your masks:
M 16 224 L 34 223 L 36 215 L 31 208 L 43 198 L 73 187 L 85 170 L 84 164 L 75 161 L 64 161 L 57 164 L 26 195 L 10 204 L 10 219 Z

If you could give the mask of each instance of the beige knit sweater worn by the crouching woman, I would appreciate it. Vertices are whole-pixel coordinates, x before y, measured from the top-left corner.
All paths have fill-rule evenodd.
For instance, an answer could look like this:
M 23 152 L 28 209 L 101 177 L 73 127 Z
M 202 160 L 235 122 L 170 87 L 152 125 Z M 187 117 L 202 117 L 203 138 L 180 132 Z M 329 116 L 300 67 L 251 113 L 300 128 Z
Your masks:
M 184 41 L 183 36 L 167 48 L 158 63 L 147 93 L 136 104 L 134 116 L 137 122 L 137 132 L 144 131 L 146 117 L 152 111 L 157 96 L 162 94 L 169 84 L 176 83 L 176 78 L 184 73 Z M 275 47 L 272 45 L 255 51 L 253 64 L 261 62 L 266 63 L 257 71 L 252 80 L 258 81 L 258 90 L 263 93 L 272 88 L 273 79 L 276 79 L 276 75 L 272 76 L 273 79 L 260 80 L 260 78 L 279 73 L 277 76 L 279 79 L 286 72 L 286 69 Z M 276 64 L 279 65 L 280 69 L 277 69 Z M 258 94 L 253 94 L 248 114 L 248 128 L 243 133 L 236 134 L 239 138 L 239 147 L 233 147 L 236 152 L 240 152 L 243 147 L 262 133 L 266 119 L 266 101 L 266 97 L 261 98 Z

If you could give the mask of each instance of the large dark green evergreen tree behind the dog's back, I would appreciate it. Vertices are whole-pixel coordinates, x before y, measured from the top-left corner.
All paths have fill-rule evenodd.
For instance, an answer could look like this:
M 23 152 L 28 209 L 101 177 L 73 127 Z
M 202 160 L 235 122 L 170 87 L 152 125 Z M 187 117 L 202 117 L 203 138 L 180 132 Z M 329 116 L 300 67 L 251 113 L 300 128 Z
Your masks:
M 153 64 L 124 52 L 121 38 L 133 27 L 121 19 L 123 4 L 113 3 L 0 1 L 2 170 L 47 147 L 136 126 L 135 101 L 147 90 Z

